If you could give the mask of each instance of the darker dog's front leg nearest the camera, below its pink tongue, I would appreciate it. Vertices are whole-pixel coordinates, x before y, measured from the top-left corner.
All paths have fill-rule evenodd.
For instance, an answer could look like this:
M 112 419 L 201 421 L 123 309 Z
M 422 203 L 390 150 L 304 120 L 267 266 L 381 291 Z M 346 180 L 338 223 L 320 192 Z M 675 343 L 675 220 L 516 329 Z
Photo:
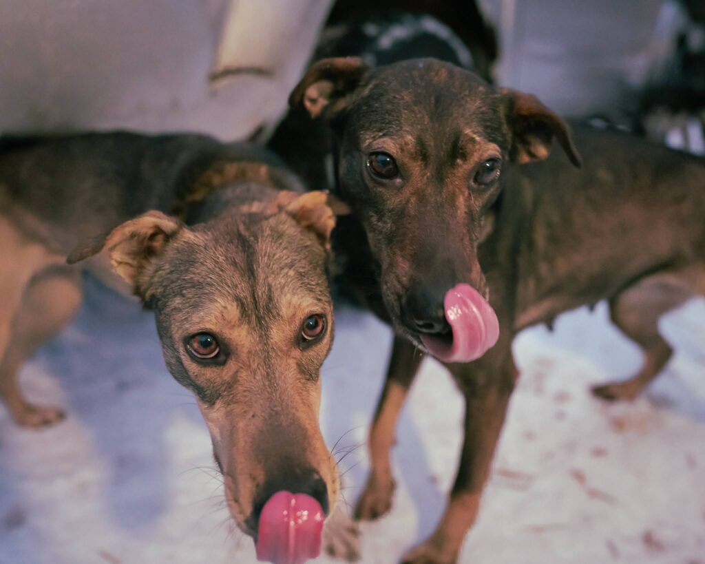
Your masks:
M 503 359 L 498 358 L 502 355 Z M 452 564 L 458 559 L 462 540 L 477 517 L 482 489 L 517 378 L 511 351 L 506 346 L 503 352 L 495 348 L 481 360 L 449 368 L 466 402 L 460 467 L 436 531 L 406 554 L 405 564 Z

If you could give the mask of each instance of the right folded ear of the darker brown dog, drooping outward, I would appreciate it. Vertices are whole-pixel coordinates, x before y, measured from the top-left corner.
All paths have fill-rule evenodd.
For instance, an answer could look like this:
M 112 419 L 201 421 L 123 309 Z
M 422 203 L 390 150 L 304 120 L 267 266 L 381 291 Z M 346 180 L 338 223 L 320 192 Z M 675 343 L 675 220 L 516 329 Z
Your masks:
M 501 89 L 508 99 L 508 122 L 512 130 L 512 158 L 519 163 L 546 159 L 556 137 L 568 159 L 580 167 L 580 155 L 573 145 L 568 125 L 532 94 Z

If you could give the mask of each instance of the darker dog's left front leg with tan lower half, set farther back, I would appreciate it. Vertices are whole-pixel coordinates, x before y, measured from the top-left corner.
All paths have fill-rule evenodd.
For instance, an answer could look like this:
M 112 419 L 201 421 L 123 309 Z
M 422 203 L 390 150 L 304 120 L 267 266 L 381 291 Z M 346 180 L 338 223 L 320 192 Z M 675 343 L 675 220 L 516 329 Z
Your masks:
M 370 473 L 355 507 L 357 519 L 376 519 L 391 508 L 395 487 L 391 448 L 394 445 L 396 423 L 423 356 L 405 338 L 394 337 L 384 390 L 369 432 Z

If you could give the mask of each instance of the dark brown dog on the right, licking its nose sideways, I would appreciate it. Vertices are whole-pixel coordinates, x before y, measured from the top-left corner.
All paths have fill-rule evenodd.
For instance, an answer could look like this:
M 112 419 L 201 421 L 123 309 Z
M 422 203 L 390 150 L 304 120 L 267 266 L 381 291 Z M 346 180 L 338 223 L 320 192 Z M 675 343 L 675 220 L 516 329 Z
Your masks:
M 430 352 L 465 396 L 465 442 L 438 528 L 404 561 L 452 563 L 477 516 L 517 379 L 517 331 L 608 299 L 615 324 L 644 350 L 644 367 L 596 388 L 604 398 L 635 397 L 670 357 L 658 317 L 705 293 L 705 163 L 580 129 L 579 168 L 567 125 L 535 97 L 433 59 L 381 68 L 325 59 L 290 104 L 331 126 L 337 190 L 353 209 L 334 247 L 346 280 L 398 333 L 357 515 L 378 517 L 391 505 L 394 427 L 421 361 L 416 349 Z M 563 151 L 549 157 L 553 138 Z M 483 298 L 498 341 L 460 362 L 492 345 Z M 464 343 L 478 346 L 470 354 Z

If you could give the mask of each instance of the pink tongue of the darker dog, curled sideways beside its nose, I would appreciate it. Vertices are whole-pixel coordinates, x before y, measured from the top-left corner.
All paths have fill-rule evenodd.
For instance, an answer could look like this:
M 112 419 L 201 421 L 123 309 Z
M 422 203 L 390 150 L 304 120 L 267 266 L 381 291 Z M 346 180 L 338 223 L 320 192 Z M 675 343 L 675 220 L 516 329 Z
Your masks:
M 453 331 L 452 341 L 422 335 L 431 355 L 443 362 L 470 362 L 490 348 L 499 337 L 499 321 L 492 306 L 469 284 L 458 284 L 443 300 L 446 320 Z

